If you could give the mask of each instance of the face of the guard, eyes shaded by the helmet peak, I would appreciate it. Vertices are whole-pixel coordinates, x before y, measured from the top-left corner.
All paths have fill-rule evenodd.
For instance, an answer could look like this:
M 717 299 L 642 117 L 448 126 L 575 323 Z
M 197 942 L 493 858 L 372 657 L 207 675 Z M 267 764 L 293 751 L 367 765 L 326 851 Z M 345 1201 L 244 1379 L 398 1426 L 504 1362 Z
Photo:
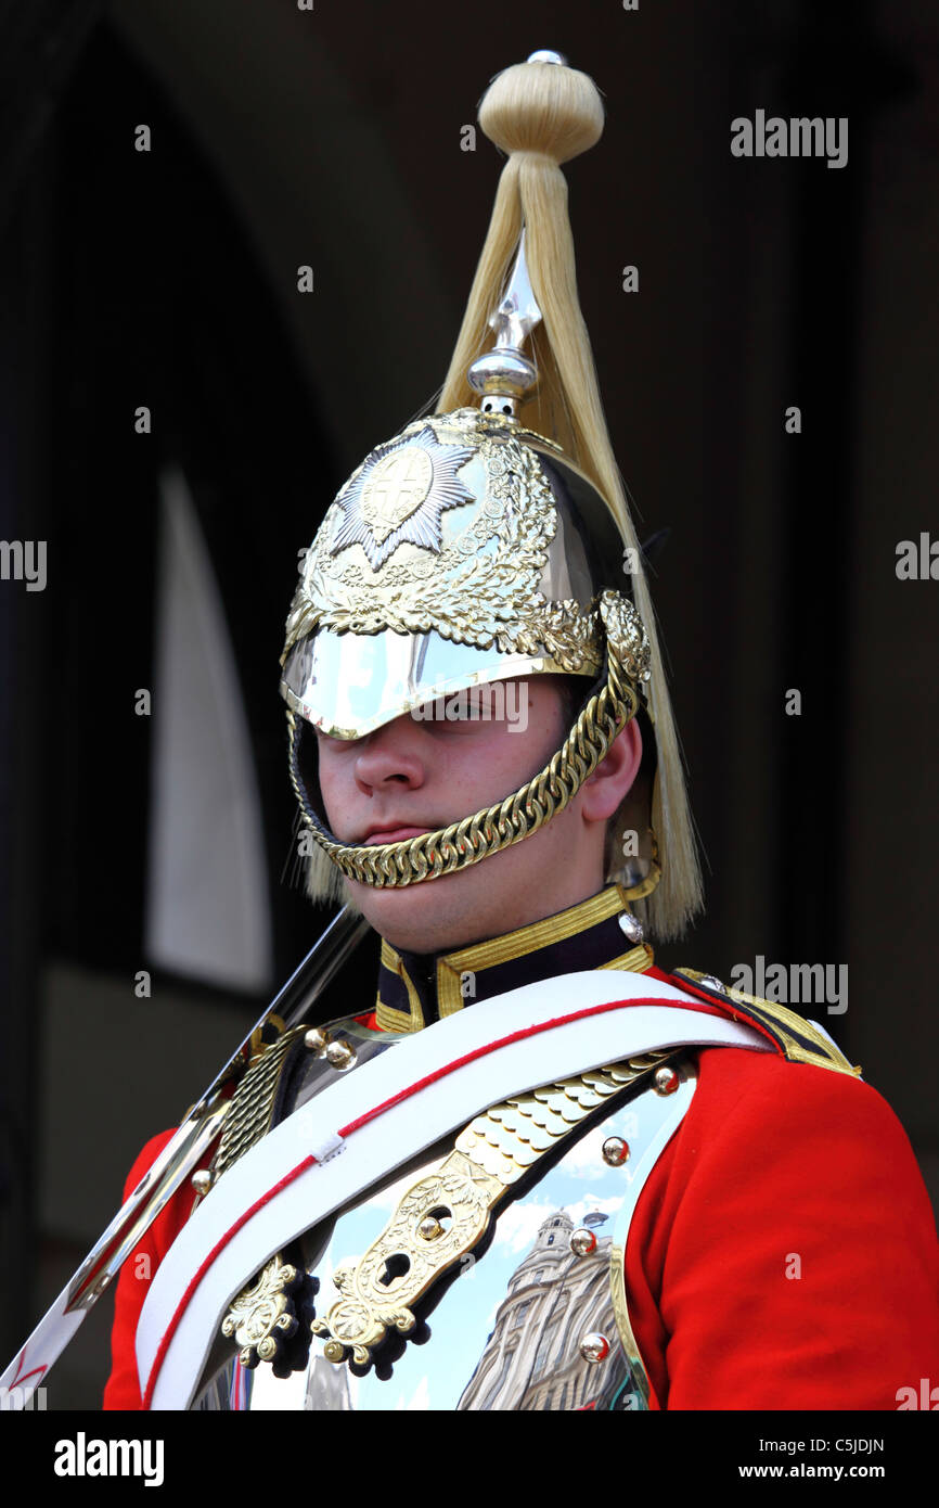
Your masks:
M 464 710 L 476 704 L 484 716 L 405 715 L 362 739 L 318 733 L 320 789 L 332 831 L 344 843 L 393 843 L 512 795 L 567 736 L 559 680 L 535 676 L 506 688 L 502 698 L 478 688 Z M 525 725 L 518 707 L 528 712 Z M 499 936 L 594 894 L 603 885 L 606 820 L 621 799 L 598 787 L 619 768 L 613 751 L 627 734 L 630 751 L 638 748 L 629 789 L 641 757 L 635 724 L 565 811 L 538 832 L 440 879 L 395 890 L 347 881 L 356 905 L 392 946 L 433 953 Z M 610 801 L 615 805 L 606 811 Z

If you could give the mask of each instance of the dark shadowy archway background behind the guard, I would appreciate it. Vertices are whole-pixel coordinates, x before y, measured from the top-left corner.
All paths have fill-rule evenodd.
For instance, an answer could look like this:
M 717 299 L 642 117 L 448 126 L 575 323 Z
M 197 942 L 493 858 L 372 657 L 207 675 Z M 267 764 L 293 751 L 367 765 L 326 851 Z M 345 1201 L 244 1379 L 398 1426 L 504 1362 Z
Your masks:
M 657 961 L 847 964 L 849 1009 L 820 1019 L 936 1193 L 939 582 L 895 561 L 939 531 L 939 14 L 32 0 L 0 18 L 0 534 L 48 547 L 45 591 L 0 582 L 0 1363 L 323 926 L 289 884 L 297 550 L 443 380 L 500 167 L 461 128 L 541 47 L 606 97 L 601 143 L 567 169 L 580 294 L 641 534 L 674 531 L 653 587 L 707 917 Z M 849 116 L 849 164 L 731 157 L 731 119 L 757 109 Z M 253 762 L 270 939 L 250 977 L 148 947 L 160 709 L 134 695 L 157 676 L 167 466 Z M 194 861 L 181 902 L 213 884 Z M 366 950 L 344 995 L 366 1004 L 372 973 Z M 48 1407 L 96 1407 L 107 1307 Z

